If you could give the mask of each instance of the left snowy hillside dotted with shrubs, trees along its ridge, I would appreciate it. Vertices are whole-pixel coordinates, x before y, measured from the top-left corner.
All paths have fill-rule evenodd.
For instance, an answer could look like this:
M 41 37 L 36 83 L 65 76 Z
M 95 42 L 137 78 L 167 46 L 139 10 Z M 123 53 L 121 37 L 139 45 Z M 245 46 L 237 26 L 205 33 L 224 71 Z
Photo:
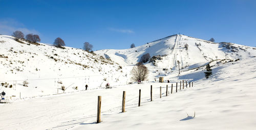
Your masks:
M 85 90 L 86 84 L 90 90 L 104 88 L 106 82 L 126 84 L 119 64 L 81 49 L 65 48 L 0 35 L 0 83 L 8 83 L 0 85 L 0 91 L 7 92 L 9 99 L 19 98 L 20 93 L 22 98 L 62 93 L 61 86 L 65 92 L 73 92 Z M 23 86 L 24 81 L 28 86 Z

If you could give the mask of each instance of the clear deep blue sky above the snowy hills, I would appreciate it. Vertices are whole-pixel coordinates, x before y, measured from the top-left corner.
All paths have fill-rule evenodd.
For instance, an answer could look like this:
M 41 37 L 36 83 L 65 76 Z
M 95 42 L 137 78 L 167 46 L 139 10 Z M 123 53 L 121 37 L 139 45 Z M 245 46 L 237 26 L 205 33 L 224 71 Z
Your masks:
M 0 0 L 0 34 L 39 34 L 52 44 L 127 49 L 173 34 L 256 46 L 256 1 Z

